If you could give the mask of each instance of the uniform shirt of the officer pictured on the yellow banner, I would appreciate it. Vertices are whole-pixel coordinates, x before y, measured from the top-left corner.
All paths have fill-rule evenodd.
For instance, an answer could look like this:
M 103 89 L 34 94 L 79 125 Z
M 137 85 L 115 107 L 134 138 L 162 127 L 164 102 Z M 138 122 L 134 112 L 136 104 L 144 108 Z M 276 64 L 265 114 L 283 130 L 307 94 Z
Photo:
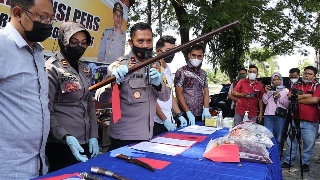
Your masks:
M 125 32 L 121 30 L 117 35 L 115 28 L 107 28 L 102 34 L 98 59 L 102 62 L 112 63 L 124 55 Z

